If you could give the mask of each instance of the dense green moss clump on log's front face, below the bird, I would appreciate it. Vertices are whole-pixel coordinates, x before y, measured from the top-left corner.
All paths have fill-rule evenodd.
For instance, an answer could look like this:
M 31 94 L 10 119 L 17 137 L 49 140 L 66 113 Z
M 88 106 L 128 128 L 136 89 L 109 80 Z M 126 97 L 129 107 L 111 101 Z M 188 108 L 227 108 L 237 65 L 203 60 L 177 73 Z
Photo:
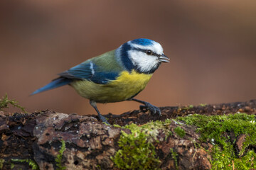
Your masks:
M 148 141 L 149 135 L 132 129 L 131 134 L 122 131 L 118 142 L 120 149 L 112 159 L 115 166 L 119 169 L 157 169 L 159 159 L 154 145 Z

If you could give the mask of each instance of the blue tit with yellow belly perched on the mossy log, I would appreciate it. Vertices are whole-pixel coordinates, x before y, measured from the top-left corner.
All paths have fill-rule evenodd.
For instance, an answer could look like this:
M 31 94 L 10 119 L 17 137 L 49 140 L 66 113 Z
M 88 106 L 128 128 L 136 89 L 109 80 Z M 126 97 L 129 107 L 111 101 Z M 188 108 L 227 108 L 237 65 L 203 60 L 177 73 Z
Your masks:
M 159 42 L 146 38 L 130 40 L 61 72 L 58 78 L 31 95 L 70 85 L 80 96 L 89 99 L 100 120 L 107 124 L 110 123 L 98 110 L 97 103 L 137 101 L 144 105 L 141 109 L 161 115 L 158 107 L 134 97 L 146 87 L 162 62 L 169 62 L 169 57 L 164 55 Z

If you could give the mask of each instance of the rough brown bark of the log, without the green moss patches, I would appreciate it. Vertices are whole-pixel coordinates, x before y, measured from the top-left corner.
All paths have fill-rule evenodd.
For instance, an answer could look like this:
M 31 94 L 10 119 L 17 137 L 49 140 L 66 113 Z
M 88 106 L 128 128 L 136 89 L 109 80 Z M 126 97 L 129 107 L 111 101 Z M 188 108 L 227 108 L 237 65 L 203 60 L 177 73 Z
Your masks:
M 110 124 L 127 125 L 136 123 L 143 125 L 151 120 L 166 120 L 193 113 L 205 115 L 223 115 L 228 113 L 256 113 L 256 100 L 238 103 L 225 103 L 197 107 L 163 107 L 162 116 L 151 115 L 148 111 L 132 111 L 122 115 L 105 115 Z M 60 157 L 61 166 L 65 169 L 118 169 L 111 157 L 119 150 L 121 131 L 127 134 L 131 130 L 105 125 L 95 115 L 75 115 L 41 111 L 35 113 L 14 113 L 6 115 L 0 112 L 0 167 L 2 169 L 31 169 L 29 160 L 38 164 L 40 169 L 61 169 L 56 161 Z M 178 127 L 176 121 L 166 129 L 174 132 Z M 186 132 L 183 137 L 166 135 L 157 130 L 154 145 L 156 157 L 159 158 L 160 169 L 210 169 L 210 154 L 203 148 L 212 147 L 209 143 L 199 140 L 200 134 L 196 127 L 183 125 Z M 239 143 L 244 140 L 239 136 Z M 60 154 L 62 141 L 65 150 Z M 201 144 L 197 147 L 195 143 Z M 176 153 L 174 156 L 173 152 Z M 59 155 L 59 156 L 58 156 Z M 15 160 L 14 160 L 15 159 Z

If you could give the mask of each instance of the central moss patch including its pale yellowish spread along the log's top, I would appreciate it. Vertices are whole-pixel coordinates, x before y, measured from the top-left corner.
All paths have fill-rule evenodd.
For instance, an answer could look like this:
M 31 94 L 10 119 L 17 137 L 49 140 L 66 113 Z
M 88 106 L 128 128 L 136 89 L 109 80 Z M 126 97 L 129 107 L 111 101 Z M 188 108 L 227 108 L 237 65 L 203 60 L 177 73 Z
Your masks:
M 119 169 L 159 169 L 159 158 L 156 157 L 154 142 L 159 129 L 164 130 L 166 135 L 171 135 L 168 127 L 171 120 L 164 122 L 154 121 L 142 126 L 135 124 L 126 125 L 124 128 L 131 130 L 131 134 L 122 131 L 119 138 L 120 149 L 112 157 Z M 164 139 L 163 139 L 164 140 Z

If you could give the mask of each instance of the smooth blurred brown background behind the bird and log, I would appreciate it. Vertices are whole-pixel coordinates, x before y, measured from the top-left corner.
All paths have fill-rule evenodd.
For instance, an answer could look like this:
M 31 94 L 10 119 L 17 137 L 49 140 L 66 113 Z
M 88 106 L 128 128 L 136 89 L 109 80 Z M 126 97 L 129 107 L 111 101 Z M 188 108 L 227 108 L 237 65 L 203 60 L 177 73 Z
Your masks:
M 156 106 L 256 98 L 256 1 L 1 1 L 0 96 L 27 111 L 95 113 L 70 86 L 28 96 L 56 74 L 135 38 L 170 57 L 137 98 Z M 137 109 L 99 104 L 103 114 Z

